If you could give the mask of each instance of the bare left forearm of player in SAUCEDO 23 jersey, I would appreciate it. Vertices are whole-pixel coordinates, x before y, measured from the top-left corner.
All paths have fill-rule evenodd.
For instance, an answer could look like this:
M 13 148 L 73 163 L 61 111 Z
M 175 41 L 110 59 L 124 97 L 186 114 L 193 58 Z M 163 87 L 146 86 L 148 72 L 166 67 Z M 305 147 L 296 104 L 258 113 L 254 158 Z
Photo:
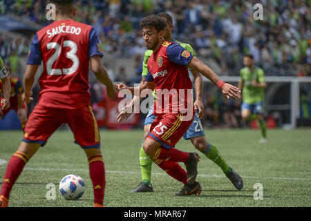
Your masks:
M 21 95 L 21 99 L 23 99 L 23 102 L 26 102 L 26 104 L 33 101 L 33 98 L 31 97 L 32 96 L 31 88 L 35 81 L 35 74 L 37 73 L 38 67 L 39 65 L 28 64 L 26 66 L 26 70 L 23 75 L 24 92 Z

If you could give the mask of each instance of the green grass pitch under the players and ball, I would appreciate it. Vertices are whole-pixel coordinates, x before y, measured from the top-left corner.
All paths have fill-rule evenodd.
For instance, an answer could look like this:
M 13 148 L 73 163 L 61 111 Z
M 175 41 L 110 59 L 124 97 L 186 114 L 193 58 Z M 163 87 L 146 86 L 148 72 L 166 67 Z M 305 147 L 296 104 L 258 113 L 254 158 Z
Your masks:
M 311 129 L 267 131 L 267 144 L 258 144 L 257 130 L 214 129 L 205 131 L 207 140 L 218 147 L 228 164 L 243 177 L 237 191 L 220 168 L 200 153 L 198 178 L 201 195 L 175 197 L 182 184 L 153 165 L 153 193 L 130 193 L 140 182 L 139 149 L 142 130 L 100 131 L 106 168 L 106 207 L 208 207 L 208 206 L 311 206 Z M 0 179 L 6 162 L 21 142 L 19 131 L 0 131 Z M 176 148 L 194 151 L 191 142 L 180 140 Z M 184 166 L 184 165 L 182 165 Z M 80 200 L 69 201 L 58 191 L 59 181 L 75 173 L 86 182 Z M 48 183 L 56 185 L 56 200 L 47 200 Z M 263 185 L 263 200 L 254 200 L 254 184 Z M 57 131 L 39 149 L 15 184 L 9 206 L 93 206 L 88 161 L 73 143 L 70 131 Z

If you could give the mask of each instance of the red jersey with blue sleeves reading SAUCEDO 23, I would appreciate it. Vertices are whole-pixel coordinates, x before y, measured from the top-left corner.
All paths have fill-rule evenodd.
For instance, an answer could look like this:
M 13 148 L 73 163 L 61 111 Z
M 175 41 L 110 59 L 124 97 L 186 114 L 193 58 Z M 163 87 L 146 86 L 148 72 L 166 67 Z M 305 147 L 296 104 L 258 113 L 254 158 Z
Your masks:
M 37 32 L 27 64 L 44 64 L 39 102 L 50 108 L 77 109 L 90 104 L 88 64 L 102 56 L 95 29 L 73 19 L 54 21 Z

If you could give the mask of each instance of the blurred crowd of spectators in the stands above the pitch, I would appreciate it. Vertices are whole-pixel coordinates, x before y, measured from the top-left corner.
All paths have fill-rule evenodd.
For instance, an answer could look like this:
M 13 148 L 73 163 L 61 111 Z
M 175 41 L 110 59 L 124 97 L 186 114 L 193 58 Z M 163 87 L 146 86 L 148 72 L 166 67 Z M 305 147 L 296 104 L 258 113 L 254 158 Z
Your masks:
M 47 3 L 0 0 L 0 13 L 46 25 Z M 256 3 L 263 6 L 263 20 L 253 17 Z M 266 75 L 311 76 L 311 1 L 78 0 L 76 6 L 75 19 L 94 26 L 103 51 L 115 57 L 142 59 L 139 22 L 166 11 L 173 17 L 173 37 L 191 44 L 201 59 L 214 59 L 220 75 L 239 75 L 243 54 L 250 53 Z M 14 63 L 28 52 L 29 43 L 2 35 L 0 55 Z

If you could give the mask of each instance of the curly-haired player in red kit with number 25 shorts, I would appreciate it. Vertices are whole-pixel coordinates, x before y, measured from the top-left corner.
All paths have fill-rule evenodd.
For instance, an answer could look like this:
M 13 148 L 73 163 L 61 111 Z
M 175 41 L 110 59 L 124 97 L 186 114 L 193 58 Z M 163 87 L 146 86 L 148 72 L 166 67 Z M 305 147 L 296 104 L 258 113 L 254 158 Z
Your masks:
M 144 43 L 153 54 L 147 62 L 149 75 L 147 87 L 156 89 L 156 103 L 153 114 L 156 119 L 151 124 L 149 136 L 144 142 L 144 151 L 153 162 L 176 180 L 185 184 L 176 195 L 197 194 L 202 191 L 196 182 L 198 154 L 179 151 L 174 146 L 187 131 L 194 118 L 192 89 L 188 68 L 198 70 L 216 84 L 229 98 L 239 99 L 239 90 L 226 84 L 205 64 L 193 57 L 185 48 L 164 41 L 165 21 L 156 15 L 144 18 L 140 28 Z M 145 84 L 146 85 L 146 84 Z M 119 89 L 125 88 L 120 85 Z M 140 85 L 140 90 L 144 86 Z M 131 90 L 134 94 L 134 91 Z M 187 173 L 177 162 L 186 164 Z

